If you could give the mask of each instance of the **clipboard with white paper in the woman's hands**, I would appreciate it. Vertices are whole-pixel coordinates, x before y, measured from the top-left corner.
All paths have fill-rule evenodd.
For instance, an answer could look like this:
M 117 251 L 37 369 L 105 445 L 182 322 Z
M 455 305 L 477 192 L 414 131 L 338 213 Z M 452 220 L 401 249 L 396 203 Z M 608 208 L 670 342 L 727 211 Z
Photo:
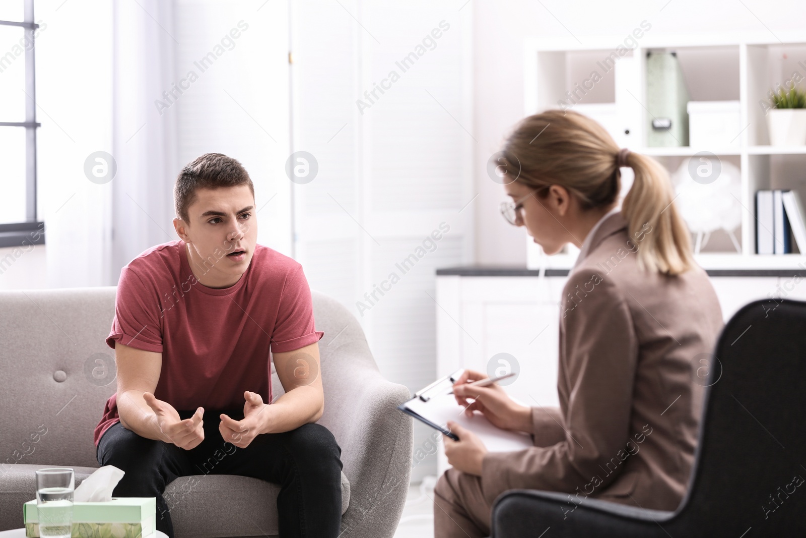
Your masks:
M 480 411 L 474 411 L 472 418 L 465 415 L 464 407 L 456 402 L 453 394 L 449 394 L 463 372 L 464 369 L 456 370 L 418 390 L 413 398 L 401 403 L 397 409 L 458 441 L 459 436 L 442 426 L 447 420 L 453 420 L 479 436 L 490 452 L 515 452 L 534 447 L 532 436 L 526 432 L 502 430 L 490 423 Z

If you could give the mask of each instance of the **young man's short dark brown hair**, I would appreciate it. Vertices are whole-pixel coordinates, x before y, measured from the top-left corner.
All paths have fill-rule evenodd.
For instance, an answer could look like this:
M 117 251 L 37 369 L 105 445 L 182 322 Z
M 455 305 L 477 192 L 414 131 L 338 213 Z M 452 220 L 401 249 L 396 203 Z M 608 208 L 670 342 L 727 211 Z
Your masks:
M 173 187 L 173 203 L 177 216 L 186 223 L 189 222 L 188 207 L 196 201 L 197 189 L 239 185 L 248 185 L 252 198 L 255 198 L 255 186 L 243 165 L 221 153 L 205 153 L 185 165 L 177 176 L 177 183 Z

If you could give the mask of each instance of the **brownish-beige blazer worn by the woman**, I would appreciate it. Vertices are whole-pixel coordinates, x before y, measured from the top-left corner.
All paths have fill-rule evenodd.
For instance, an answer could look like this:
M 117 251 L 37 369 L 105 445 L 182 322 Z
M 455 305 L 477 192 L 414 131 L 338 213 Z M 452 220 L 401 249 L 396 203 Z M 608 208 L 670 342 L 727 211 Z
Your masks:
M 532 408 L 533 448 L 484 457 L 490 504 L 514 488 L 567 492 L 568 512 L 588 496 L 670 511 L 683 499 L 721 309 L 700 267 L 638 269 L 652 230 L 628 242 L 626 226 L 621 213 L 603 219 L 568 278 L 559 409 Z

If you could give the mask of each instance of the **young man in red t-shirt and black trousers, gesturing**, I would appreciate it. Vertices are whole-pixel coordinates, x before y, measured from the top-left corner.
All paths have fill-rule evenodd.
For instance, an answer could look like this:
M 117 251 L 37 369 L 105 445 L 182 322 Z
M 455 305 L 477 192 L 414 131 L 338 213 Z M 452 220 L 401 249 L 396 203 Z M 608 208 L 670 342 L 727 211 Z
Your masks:
M 156 497 L 156 528 L 171 538 L 165 486 L 207 473 L 280 485 L 284 538 L 337 536 L 341 448 L 316 423 L 323 333 L 301 265 L 256 244 L 255 191 L 235 159 L 198 157 L 174 198 L 181 240 L 120 274 L 106 339 L 118 391 L 95 428 L 98 463 L 126 472 L 115 496 Z M 273 403 L 269 348 L 285 389 Z

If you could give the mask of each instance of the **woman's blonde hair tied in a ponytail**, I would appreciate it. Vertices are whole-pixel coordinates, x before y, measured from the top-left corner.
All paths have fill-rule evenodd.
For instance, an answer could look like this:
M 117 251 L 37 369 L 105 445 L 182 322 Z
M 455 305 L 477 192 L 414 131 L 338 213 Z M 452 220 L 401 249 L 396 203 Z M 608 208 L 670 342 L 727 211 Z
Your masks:
M 694 265 L 691 236 L 675 207 L 666 169 L 648 156 L 620 155 L 613 137 L 596 121 L 574 111 L 531 115 L 506 140 L 503 154 L 509 177 L 534 189 L 563 186 L 577 195 L 583 210 L 616 202 L 621 190 L 619 164 L 629 166 L 635 180 L 621 214 L 630 237 L 642 232 L 638 264 L 669 275 Z

